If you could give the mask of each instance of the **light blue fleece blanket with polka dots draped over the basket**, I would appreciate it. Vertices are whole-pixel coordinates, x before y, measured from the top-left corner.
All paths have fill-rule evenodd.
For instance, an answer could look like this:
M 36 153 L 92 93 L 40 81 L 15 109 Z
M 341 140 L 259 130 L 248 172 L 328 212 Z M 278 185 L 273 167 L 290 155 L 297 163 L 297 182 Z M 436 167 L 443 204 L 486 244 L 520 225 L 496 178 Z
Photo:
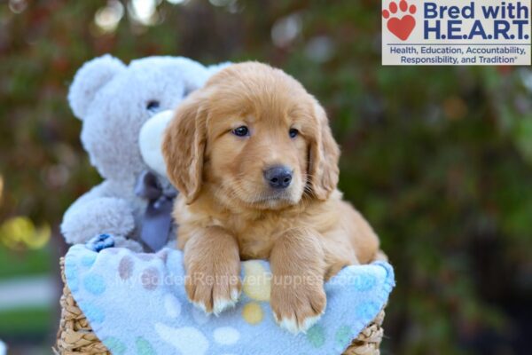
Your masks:
M 325 284 L 323 317 L 305 334 L 293 335 L 273 319 L 269 273 L 267 262 L 243 262 L 242 296 L 235 308 L 216 317 L 188 301 L 179 250 L 97 253 L 75 245 L 65 259 L 74 299 L 98 338 L 118 355 L 340 354 L 395 286 L 385 262 L 345 267 Z

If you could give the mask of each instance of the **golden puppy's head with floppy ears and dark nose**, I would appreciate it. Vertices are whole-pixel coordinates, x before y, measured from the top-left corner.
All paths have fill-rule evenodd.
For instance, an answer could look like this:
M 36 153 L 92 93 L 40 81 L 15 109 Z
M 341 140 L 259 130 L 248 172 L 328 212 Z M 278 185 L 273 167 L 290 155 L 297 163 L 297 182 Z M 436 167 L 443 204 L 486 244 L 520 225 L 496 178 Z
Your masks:
M 232 65 L 185 99 L 166 130 L 170 180 L 192 203 L 203 187 L 230 204 L 281 209 L 326 200 L 339 149 L 325 111 L 300 83 L 255 62 Z

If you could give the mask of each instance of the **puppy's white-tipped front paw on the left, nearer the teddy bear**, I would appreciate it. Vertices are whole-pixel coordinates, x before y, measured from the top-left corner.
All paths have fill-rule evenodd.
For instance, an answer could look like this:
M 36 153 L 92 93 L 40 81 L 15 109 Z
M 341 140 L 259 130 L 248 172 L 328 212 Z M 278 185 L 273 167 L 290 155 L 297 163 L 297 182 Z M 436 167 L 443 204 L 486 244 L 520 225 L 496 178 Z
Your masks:
M 186 293 L 192 304 L 206 313 L 220 314 L 234 307 L 242 289 L 240 263 L 210 260 L 189 266 L 185 280 Z

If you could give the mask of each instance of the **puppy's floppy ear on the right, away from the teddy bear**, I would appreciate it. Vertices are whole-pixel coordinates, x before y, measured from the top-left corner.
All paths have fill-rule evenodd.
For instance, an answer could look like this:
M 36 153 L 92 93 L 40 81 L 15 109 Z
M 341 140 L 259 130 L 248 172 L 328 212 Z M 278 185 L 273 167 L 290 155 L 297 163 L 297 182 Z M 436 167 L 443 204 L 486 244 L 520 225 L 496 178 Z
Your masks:
M 332 137 L 325 110 L 317 101 L 314 115 L 317 130 L 310 143 L 309 185 L 317 199 L 325 201 L 338 184 L 340 149 Z

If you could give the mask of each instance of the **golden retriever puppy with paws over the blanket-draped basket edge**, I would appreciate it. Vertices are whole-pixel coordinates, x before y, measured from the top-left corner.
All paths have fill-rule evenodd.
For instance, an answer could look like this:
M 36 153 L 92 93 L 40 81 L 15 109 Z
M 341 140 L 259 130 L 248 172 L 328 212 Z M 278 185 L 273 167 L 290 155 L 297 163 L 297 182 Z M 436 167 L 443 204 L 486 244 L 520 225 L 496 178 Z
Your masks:
M 231 65 L 185 99 L 163 140 L 186 292 L 218 314 L 240 293 L 240 260 L 269 259 L 281 327 L 325 312 L 324 281 L 372 261 L 379 240 L 337 190 L 339 148 L 322 106 L 292 76 Z

